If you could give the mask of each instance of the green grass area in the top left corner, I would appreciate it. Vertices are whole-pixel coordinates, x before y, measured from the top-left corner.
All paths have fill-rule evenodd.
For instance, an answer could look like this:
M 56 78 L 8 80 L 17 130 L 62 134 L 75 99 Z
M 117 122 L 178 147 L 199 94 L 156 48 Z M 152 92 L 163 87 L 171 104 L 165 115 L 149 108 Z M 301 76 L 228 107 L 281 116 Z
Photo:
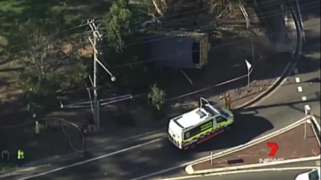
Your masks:
M 47 19 L 59 29 L 80 25 L 88 18 L 100 18 L 112 0 L 1 0 L 0 1 L 0 52 L 1 47 L 19 42 L 10 41 L 15 26 L 28 18 Z M 84 29 L 79 30 L 84 32 Z M 77 30 L 68 32 L 77 33 Z M 66 34 L 68 35 L 68 34 Z M 1 62 L 1 61 L 0 61 Z

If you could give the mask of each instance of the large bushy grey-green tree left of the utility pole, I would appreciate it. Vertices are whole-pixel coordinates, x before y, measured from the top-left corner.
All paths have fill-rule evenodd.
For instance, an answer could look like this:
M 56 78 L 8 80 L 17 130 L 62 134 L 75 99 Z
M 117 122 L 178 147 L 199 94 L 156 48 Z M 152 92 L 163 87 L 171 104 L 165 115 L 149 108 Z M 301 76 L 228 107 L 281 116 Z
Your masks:
M 57 92 L 77 86 L 86 74 L 78 48 L 66 49 L 67 42 L 46 36 L 43 26 L 46 22 L 29 20 L 18 26 L 15 35 L 24 42 L 15 57 L 24 67 L 18 83 L 27 94 L 27 103 L 36 109 L 56 106 Z

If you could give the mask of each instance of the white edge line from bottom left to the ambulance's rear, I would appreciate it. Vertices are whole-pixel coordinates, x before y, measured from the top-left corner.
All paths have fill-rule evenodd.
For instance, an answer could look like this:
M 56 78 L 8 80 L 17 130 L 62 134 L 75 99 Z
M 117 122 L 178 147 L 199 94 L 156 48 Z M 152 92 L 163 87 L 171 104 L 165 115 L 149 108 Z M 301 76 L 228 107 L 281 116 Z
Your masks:
M 92 161 L 95 161 L 95 160 L 98 160 L 98 159 L 101 159 L 101 158 L 105 158 L 105 157 L 112 156 L 112 155 L 115 155 L 115 154 L 118 154 L 118 153 L 121 153 L 121 152 L 125 152 L 125 151 L 131 150 L 131 149 L 135 149 L 135 148 L 147 145 L 147 144 L 152 144 L 152 143 L 158 142 L 158 141 L 160 141 L 162 139 L 163 138 L 158 138 L 158 139 L 153 140 L 153 141 L 149 141 L 149 142 L 146 142 L 146 143 L 143 143 L 143 144 L 134 145 L 132 147 L 128 147 L 128 148 L 121 149 L 121 150 L 118 150 L 118 151 L 115 151 L 115 152 L 104 154 L 104 155 L 101 155 L 101 156 L 98 156 L 98 157 L 95 157 L 95 158 L 92 158 L 92 159 L 88 159 L 86 161 L 81 161 L 81 162 L 78 162 L 78 163 L 70 164 L 68 166 L 63 166 L 63 167 L 56 168 L 56 169 L 53 169 L 53 170 L 50 170 L 50 171 L 46 171 L 44 173 L 40 173 L 40 174 L 37 174 L 37 175 L 21 178 L 21 179 L 18 179 L 18 180 L 27 180 L 27 179 L 30 179 L 30 178 L 43 176 L 43 175 L 46 175 L 46 174 L 49 174 L 49 173 L 53 173 L 53 172 L 56 172 L 56 171 L 61 171 L 61 170 L 64 170 L 64 169 L 67 169 L 67 168 L 70 168 L 70 167 L 74 167 L 74 166 L 78 166 L 78 165 L 81 165 L 81 164 L 89 163 L 89 162 L 92 162 Z

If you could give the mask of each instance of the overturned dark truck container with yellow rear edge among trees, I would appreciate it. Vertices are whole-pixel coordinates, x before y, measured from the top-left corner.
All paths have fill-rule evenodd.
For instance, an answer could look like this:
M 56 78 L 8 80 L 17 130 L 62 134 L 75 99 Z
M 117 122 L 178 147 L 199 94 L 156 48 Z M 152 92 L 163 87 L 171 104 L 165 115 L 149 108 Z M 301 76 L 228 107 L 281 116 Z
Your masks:
M 208 34 L 184 31 L 148 32 L 145 58 L 157 66 L 201 69 L 208 62 Z

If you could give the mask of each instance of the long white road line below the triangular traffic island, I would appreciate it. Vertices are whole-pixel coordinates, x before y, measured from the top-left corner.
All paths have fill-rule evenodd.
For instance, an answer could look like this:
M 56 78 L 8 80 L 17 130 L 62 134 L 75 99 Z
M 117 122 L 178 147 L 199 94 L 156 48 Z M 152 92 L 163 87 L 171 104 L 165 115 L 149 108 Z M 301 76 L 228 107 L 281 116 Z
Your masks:
M 210 173 L 210 174 L 202 174 L 202 175 L 191 175 L 191 176 L 183 176 L 183 177 L 176 177 L 176 178 L 166 178 L 166 179 L 154 179 L 154 180 L 184 180 L 184 179 L 191 179 L 191 178 L 201 178 L 207 176 L 223 176 L 223 175 L 230 175 L 230 174 L 240 174 L 240 173 L 257 173 L 257 172 L 267 172 L 267 171 L 294 171 L 294 170 L 311 170 L 319 168 L 318 166 L 312 167 L 293 167 L 293 168 L 268 168 L 268 169 L 255 169 L 255 170 L 239 170 L 239 171 L 229 171 L 229 172 L 220 172 L 220 173 Z

